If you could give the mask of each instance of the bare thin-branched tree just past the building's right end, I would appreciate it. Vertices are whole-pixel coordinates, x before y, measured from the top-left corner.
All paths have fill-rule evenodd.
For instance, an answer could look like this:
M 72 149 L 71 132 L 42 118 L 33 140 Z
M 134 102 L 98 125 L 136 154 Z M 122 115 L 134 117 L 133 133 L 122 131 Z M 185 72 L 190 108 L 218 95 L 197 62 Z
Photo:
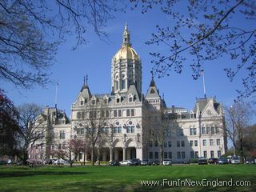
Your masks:
M 226 133 L 233 146 L 245 158 L 245 135 L 248 129 L 250 118 L 254 115 L 254 110 L 248 102 L 235 102 L 233 106 L 226 107 Z

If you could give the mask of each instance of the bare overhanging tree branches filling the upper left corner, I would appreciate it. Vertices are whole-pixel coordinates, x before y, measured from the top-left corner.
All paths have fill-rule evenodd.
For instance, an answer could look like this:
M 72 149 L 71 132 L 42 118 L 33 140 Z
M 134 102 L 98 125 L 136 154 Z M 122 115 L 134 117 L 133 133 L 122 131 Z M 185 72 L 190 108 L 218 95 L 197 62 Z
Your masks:
M 0 79 L 29 89 L 49 82 L 49 68 L 58 45 L 75 34 L 85 44 L 93 28 L 103 39 L 106 22 L 114 18 L 116 0 L 2 0 L 0 2 Z

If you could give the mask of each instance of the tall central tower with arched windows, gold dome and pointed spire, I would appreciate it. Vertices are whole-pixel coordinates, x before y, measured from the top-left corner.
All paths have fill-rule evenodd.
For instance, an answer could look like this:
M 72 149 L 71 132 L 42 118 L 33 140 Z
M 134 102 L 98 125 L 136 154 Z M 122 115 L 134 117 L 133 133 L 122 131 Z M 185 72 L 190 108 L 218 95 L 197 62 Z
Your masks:
M 114 94 L 126 93 L 135 85 L 142 94 L 142 64 L 136 51 L 131 47 L 130 32 L 126 24 L 122 34 L 122 47 L 112 58 L 111 87 Z

